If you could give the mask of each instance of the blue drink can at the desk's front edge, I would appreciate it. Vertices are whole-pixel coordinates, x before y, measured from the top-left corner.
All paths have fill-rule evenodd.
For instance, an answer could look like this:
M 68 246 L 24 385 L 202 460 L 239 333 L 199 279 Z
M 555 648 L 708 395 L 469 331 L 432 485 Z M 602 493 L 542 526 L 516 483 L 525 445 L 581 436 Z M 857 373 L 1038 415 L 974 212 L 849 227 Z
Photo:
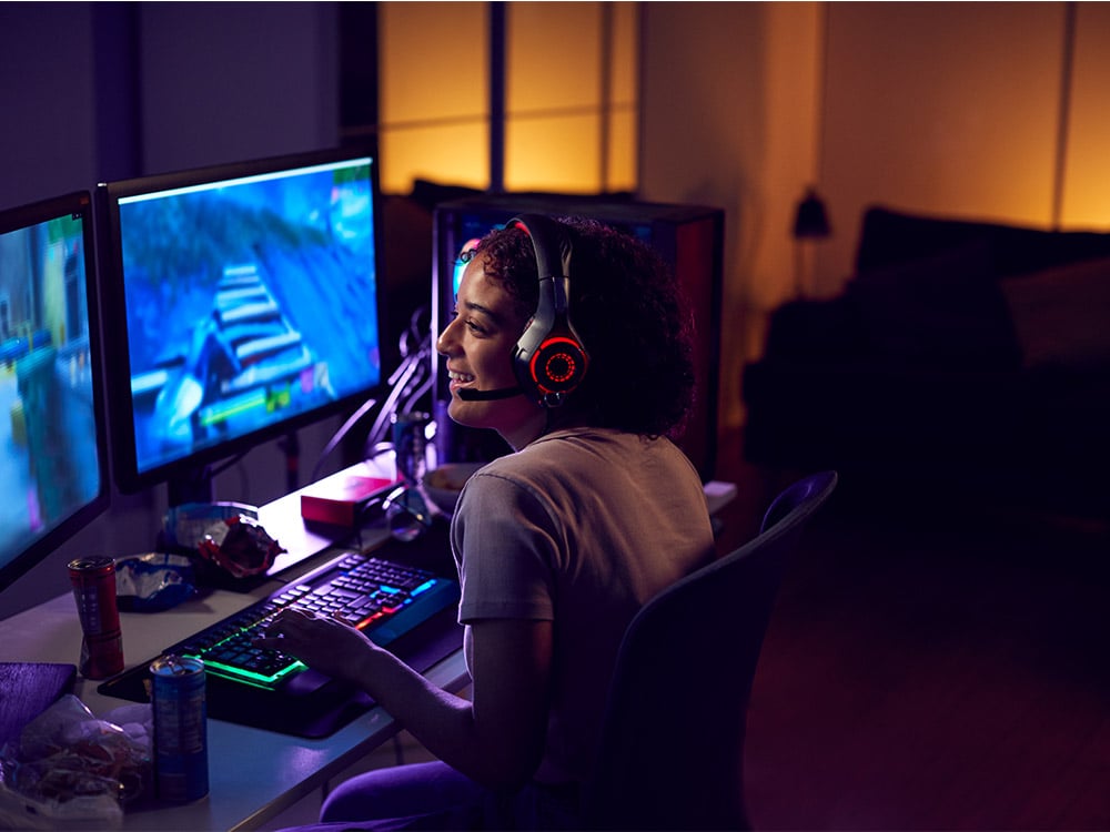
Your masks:
M 208 794 L 208 702 L 204 662 L 163 656 L 150 666 L 154 711 L 154 782 L 161 800 Z

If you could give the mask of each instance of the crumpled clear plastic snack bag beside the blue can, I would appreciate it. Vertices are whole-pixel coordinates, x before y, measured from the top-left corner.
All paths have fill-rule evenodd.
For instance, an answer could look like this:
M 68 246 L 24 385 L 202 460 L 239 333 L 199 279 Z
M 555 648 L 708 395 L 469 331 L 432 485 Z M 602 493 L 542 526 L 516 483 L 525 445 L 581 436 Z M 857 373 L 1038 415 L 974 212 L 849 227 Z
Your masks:
M 61 697 L 0 749 L 0 829 L 120 826 L 123 804 L 152 791 L 152 722 L 149 704 L 98 719 Z

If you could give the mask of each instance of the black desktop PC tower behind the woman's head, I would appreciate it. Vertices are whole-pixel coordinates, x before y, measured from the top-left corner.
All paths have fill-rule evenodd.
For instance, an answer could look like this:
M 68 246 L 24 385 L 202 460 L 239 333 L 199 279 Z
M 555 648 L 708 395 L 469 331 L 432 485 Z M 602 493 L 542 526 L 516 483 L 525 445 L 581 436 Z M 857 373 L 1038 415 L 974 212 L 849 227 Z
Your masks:
M 433 333 L 450 319 L 463 244 L 521 213 L 595 219 L 643 240 L 674 268 L 694 312 L 697 374 L 695 412 L 679 445 L 702 480 L 710 480 L 717 454 L 724 210 L 563 194 L 480 195 L 440 203 L 433 219 Z M 451 394 L 438 361 L 433 363 L 432 395 L 441 463 L 487 461 L 507 453 L 492 432 L 455 425 L 446 416 Z

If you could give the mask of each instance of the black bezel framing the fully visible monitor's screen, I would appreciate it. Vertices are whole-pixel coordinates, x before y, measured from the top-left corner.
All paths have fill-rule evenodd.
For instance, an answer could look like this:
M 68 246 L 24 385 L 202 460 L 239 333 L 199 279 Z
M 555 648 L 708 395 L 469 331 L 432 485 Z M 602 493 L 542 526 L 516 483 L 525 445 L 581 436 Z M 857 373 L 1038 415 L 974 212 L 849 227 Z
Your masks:
M 95 196 L 101 233 L 101 301 L 104 306 L 105 323 L 127 321 L 123 251 L 119 213 L 120 199 L 357 159 L 369 159 L 371 162 L 370 177 L 374 234 L 373 257 L 374 273 L 376 275 L 376 308 L 374 310 L 374 314 L 377 317 L 377 326 L 381 332 L 383 312 L 385 310 L 385 303 L 383 302 L 385 281 L 382 274 L 384 257 L 381 251 L 383 225 L 382 199 L 379 185 L 380 162 L 376 145 L 365 141 L 329 150 L 229 162 L 98 184 Z M 185 491 L 190 488 L 199 488 L 200 496 L 203 497 L 210 487 L 210 483 L 206 480 L 210 466 L 213 464 L 238 457 L 266 442 L 278 439 L 303 427 L 350 410 L 374 395 L 373 388 L 364 388 L 350 393 L 342 398 L 290 417 L 279 424 L 263 426 L 250 433 L 232 437 L 226 443 L 196 448 L 189 456 L 140 470 L 137 456 L 138 437 L 135 436 L 132 415 L 130 344 L 128 343 L 123 324 L 120 323 L 115 326 L 115 329 L 105 332 L 104 349 L 113 479 L 115 487 L 123 494 L 135 494 L 165 483 L 170 485 L 171 493 L 174 493 L 175 484 L 181 484 L 181 487 Z M 384 344 L 380 345 L 380 353 L 383 365 L 379 387 L 386 383 L 390 374 L 390 368 L 385 366 L 386 351 L 384 349 Z

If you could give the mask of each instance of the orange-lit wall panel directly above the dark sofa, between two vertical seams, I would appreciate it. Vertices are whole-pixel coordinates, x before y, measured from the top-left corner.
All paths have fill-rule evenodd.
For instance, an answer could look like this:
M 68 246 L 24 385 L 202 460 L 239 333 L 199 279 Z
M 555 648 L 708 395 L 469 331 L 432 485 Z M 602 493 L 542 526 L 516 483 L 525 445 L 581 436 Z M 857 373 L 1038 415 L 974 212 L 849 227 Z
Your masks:
M 1047 227 L 1063 3 L 842 3 L 829 16 L 823 187 L 836 236 L 824 293 L 850 273 L 870 203 Z

